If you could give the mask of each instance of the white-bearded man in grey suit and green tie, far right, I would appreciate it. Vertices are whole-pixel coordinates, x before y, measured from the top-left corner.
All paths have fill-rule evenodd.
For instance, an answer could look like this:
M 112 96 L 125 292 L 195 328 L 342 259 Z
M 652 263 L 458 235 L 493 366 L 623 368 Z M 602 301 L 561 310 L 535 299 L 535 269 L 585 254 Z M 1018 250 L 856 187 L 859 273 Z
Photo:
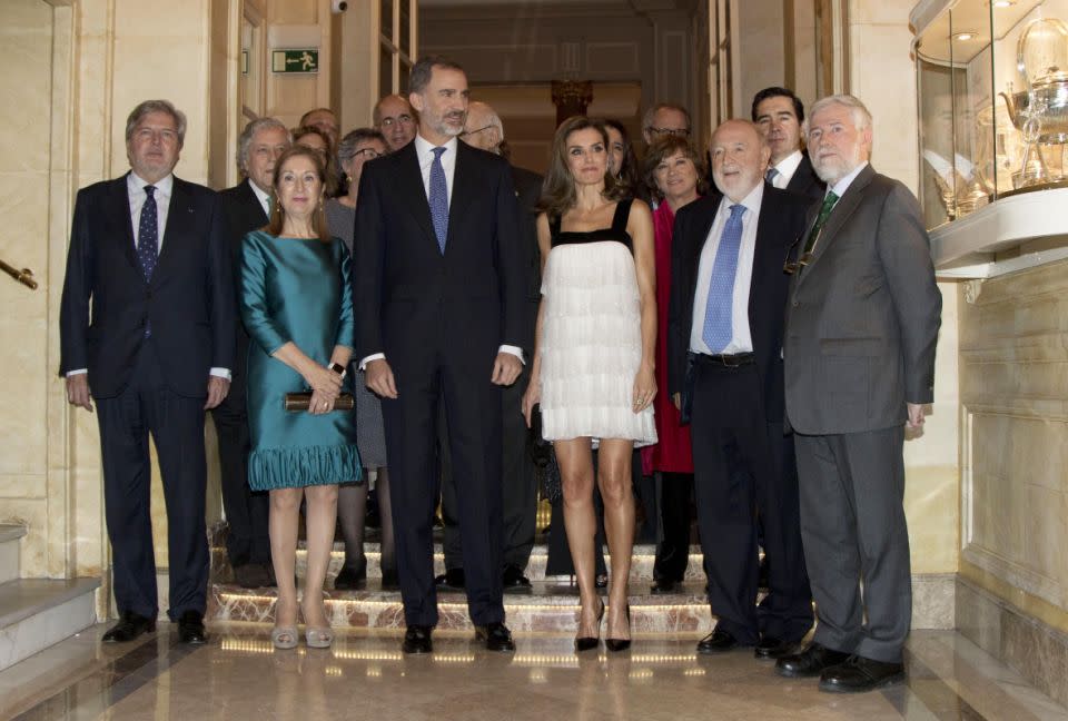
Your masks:
M 779 660 L 820 689 L 904 678 L 912 611 L 906 426 L 933 401 L 941 294 L 919 204 L 876 172 L 871 115 L 852 96 L 812 108 L 809 148 L 827 182 L 799 238 L 787 304 L 787 418 L 801 483 L 801 533 L 819 624 Z M 861 589 L 861 584 L 863 589 Z

